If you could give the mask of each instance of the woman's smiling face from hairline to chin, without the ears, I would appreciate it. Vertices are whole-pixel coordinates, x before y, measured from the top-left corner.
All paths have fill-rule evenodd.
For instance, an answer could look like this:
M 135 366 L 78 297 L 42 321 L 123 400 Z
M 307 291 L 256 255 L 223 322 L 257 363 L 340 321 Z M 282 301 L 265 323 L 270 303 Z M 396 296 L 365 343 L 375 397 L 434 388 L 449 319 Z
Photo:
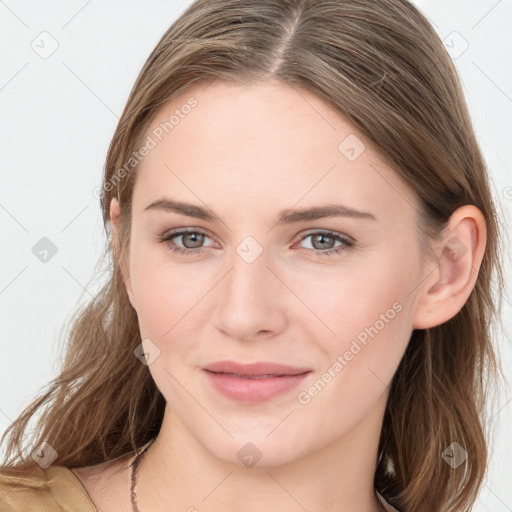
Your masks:
M 278 82 L 196 84 L 145 146 L 125 274 L 176 428 L 268 465 L 378 437 L 426 275 L 412 190 L 346 119 Z M 226 360 L 307 373 L 204 369 Z

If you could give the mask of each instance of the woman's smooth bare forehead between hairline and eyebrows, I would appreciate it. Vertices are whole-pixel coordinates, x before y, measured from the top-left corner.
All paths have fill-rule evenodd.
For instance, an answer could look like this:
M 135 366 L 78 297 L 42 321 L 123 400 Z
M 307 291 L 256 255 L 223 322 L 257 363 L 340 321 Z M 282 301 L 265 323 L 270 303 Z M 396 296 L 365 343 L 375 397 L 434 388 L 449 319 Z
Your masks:
M 195 84 L 160 109 L 145 137 L 134 204 L 163 195 L 213 209 L 341 202 L 403 216 L 417 203 L 343 115 L 276 81 Z

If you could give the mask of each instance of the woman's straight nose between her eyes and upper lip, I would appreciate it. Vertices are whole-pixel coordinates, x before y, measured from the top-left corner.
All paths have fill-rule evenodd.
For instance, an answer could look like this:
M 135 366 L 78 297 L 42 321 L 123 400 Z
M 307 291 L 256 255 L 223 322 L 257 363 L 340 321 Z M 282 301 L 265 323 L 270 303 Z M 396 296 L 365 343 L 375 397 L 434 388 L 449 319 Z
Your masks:
M 233 254 L 231 268 L 219 283 L 214 322 L 225 336 L 239 341 L 270 337 L 285 329 L 291 292 L 263 251 L 256 259 Z M 254 256 L 254 255 L 253 255 Z

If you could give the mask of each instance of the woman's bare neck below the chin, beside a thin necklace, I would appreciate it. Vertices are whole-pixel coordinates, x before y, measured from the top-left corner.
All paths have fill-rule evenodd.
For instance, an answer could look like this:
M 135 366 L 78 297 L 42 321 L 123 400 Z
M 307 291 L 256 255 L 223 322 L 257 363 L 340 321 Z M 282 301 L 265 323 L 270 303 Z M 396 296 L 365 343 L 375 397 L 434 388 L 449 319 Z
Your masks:
M 377 407 L 373 414 L 382 417 L 383 410 Z M 246 467 L 212 455 L 167 406 L 160 433 L 139 467 L 138 508 L 260 512 L 271 504 L 282 512 L 381 512 L 373 487 L 381 422 L 365 420 L 299 459 Z M 235 452 L 238 445 L 233 443 Z

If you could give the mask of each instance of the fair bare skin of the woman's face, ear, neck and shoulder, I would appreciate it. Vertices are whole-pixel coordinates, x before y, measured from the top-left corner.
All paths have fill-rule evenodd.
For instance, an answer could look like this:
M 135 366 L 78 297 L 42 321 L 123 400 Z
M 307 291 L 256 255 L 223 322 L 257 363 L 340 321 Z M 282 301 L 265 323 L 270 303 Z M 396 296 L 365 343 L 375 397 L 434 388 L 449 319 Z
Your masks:
M 389 383 L 412 331 L 449 320 L 469 297 L 485 250 L 484 218 L 474 206 L 458 209 L 442 243 L 432 243 L 436 258 L 424 264 L 415 193 L 319 98 L 275 81 L 195 84 L 162 108 L 147 133 L 191 96 L 198 105 L 140 163 L 130 249 L 121 261 L 142 339 L 160 351 L 148 371 L 167 401 L 160 434 L 140 466 L 139 509 L 382 510 L 373 477 Z M 350 134 L 365 145 L 353 161 L 338 149 Z M 144 210 L 164 197 L 211 209 L 222 222 Z M 376 220 L 274 222 L 281 209 L 327 203 Z M 114 247 L 121 208 L 113 199 Z M 176 228 L 205 232 L 202 245 L 187 236 L 173 240 L 202 251 L 172 253 L 172 241 L 159 237 Z M 315 249 L 340 242 L 315 243 L 308 236 L 314 230 L 356 243 L 318 255 Z M 248 236 L 263 250 L 252 263 L 236 251 Z M 446 244 L 453 238 L 463 248 L 456 258 Z M 400 311 L 300 403 L 298 392 L 393 304 Z M 246 405 L 205 379 L 201 368 L 222 359 L 312 372 L 298 389 Z M 237 457 L 248 442 L 261 453 L 253 467 Z M 99 509 L 130 510 L 126 461 L 75 472 Z

